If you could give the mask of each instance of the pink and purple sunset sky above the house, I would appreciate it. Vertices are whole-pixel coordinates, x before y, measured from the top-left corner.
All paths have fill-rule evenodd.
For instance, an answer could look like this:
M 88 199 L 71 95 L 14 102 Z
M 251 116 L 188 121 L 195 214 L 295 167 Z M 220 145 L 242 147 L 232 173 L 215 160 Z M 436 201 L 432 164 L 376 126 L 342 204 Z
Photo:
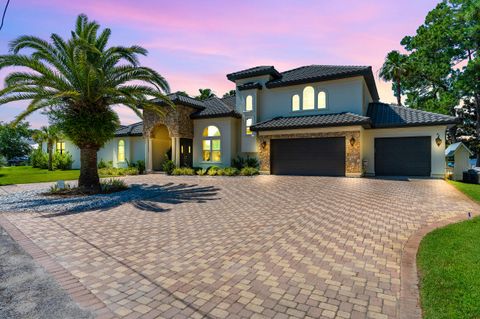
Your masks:
M 1 9 L 6 0 L 0 0 Z M 378 79 L 388 51 L 401 49 L 434 0 L 11 0 L 0 31 L 0 54 L 8 42 L 29 34 L 67 36 L 76 16 L 86 13 L 113 31 L 111 44 L 148 49 L 142 63 L 159 71 L 172 91 L 196 95 L 211 88 L 223 95 L 234 85 L 227 73 L 256 65 L 285 71 L 308 64 L 371 65 L 381 100 L 393 102 L 390 84 Z M 0 71 L 3 77 L 11 69 Z M 25 103 L 0 106 L 0 121 L 10 121 Z M 118 108 L 121 122 L 137 122 Z M 47 124 L 34 114 L 33 127 Z

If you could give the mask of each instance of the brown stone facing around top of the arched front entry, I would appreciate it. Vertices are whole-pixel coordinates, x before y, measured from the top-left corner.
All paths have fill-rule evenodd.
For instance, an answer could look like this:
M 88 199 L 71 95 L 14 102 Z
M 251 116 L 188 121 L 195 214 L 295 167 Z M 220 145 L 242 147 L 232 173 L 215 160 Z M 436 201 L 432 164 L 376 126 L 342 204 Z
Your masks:
M 175 109 L 162 109 L 164 116 L 151 110 L 143 111 L 143 136 L 150 136 L 155 126 L 165 125 L 170 137 L 193 138 L 193 120 L 190 118 L 190 114 L 195 111 L 193 108 L 176 105 Z

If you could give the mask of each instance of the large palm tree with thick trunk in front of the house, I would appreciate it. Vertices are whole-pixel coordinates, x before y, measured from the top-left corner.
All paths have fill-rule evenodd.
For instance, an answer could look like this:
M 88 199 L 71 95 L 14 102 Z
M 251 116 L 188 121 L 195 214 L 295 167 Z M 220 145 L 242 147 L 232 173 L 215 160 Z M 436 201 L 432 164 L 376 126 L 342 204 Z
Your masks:
M 119 119 L 113 105 L 125 105 L 142 117 L 141 108 L 164 112 L 153 102 L 165 101 L 167 81 L 153 69 L 139 64 L 147 51 L 139 46 L 107 47 L 110 29 L 79 15 L 71 37 L 52 34 L 50 41 L 21 36 L 10 43 L 11 54 L 0 56 L 0 70 L 24 67 L 10 73 L 0 90 L 0 105 L 30 100 L 19 122 L 37 110 L 80 148 L 78 185 L 85 192 L 99 192 L 97 151 L 114 136 Z M 20 54 L 27 49 L 27 54 Z

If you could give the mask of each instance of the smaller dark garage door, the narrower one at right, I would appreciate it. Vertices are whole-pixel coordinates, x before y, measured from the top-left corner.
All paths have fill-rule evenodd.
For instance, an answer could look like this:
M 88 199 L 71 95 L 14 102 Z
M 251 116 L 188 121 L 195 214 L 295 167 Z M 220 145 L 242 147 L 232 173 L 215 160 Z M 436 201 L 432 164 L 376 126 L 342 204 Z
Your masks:
M 431 138 L 375 139 L 375 175 L 430 176 Z

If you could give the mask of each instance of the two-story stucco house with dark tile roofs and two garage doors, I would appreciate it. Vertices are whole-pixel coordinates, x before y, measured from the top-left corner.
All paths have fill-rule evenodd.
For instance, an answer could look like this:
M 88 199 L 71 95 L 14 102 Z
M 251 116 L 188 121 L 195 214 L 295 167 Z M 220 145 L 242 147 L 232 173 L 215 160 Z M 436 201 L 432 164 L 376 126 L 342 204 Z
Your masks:
M 166 115 L 122 126 L 98 157 L 115 166 L 145 160 L 160 170 L 230 166 L 254 156 L 270 174 L 442 177 L 445 132 L 454 117 L 379 102 L 371 67 L 258 66 L 227 75 L 236 96 L 198 101 L 178 94 Z M 78 151 L 74 154 L 78 163 Z M 75 164 L 74 164 L 75 165 Z

